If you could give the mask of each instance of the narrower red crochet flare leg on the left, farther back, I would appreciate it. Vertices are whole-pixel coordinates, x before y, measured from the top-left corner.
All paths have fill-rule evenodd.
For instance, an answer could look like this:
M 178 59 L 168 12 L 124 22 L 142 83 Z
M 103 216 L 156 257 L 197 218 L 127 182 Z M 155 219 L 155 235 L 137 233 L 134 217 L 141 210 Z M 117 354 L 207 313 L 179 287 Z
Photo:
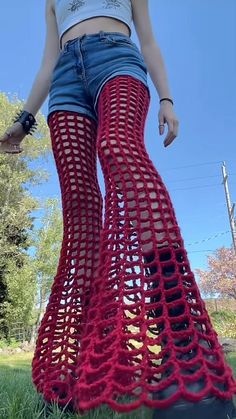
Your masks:
M 41 321 L 32 378 L 46 401 L 72 404 L 90 284 L 98 266 L 102 196 L 96 173 L 96 123 L 58 111 L 49 120 L 63 207 L 59 265 Z

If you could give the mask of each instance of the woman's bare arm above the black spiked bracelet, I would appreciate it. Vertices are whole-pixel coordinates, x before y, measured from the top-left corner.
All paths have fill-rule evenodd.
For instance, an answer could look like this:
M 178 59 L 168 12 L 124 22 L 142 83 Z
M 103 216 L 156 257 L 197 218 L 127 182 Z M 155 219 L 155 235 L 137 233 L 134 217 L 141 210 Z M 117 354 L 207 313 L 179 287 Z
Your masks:
M 42 62 L 24 106 L 24 110 L 32 113 L 34 116 L 48 95 L 52 71 L 60 52 L 57 22 L 52 0 L 46 0 L 45 13 L 47 34 Z

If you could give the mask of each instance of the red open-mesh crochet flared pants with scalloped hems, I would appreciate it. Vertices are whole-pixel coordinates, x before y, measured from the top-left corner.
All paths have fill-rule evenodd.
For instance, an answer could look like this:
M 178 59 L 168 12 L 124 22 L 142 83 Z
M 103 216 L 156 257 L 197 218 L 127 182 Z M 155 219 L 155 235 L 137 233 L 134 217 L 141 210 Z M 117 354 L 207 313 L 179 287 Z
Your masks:
M 100 94 L 98 127 L 64 111 L 49 122 L 64 236 L 32 376 L 45 400 L 81 412 L 102 403 L 117 411 L 164 408 L 180 398 L 227 399 L 235 390 L 144 145 L 149 101 L 140 81 L 118 76 Z

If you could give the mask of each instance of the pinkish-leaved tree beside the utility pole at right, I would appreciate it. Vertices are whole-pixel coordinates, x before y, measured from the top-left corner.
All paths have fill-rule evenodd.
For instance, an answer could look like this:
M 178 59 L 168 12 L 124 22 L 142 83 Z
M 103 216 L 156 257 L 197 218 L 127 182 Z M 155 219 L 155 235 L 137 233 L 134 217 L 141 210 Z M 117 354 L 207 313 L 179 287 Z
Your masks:
M 205 294 L 219 294 L 236 300 L 236 255 L 233 248 L 222 247 L 208 256 L 208 270 L 196 269 L 199 286 Z

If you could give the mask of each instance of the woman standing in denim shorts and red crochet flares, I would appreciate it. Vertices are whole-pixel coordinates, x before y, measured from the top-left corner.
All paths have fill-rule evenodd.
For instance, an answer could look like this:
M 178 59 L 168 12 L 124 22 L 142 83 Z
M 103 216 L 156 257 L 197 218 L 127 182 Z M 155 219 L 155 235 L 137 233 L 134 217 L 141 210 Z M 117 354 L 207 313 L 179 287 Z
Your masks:
M 80 411 L 145 404 L 159 419 L 232 419 L 232 371 L 144 144 L 148 72 L 160 97 L 160 135 L 168 126 L 164 146 L 178 134 L 148 2 L 47 0 L 46 19 L 42 66 L 0 148 L 22 152 L 49 93 L 64 235 L 33 382 L 48 402 Z M 132 20 L 141 52 L 130 39 Z

